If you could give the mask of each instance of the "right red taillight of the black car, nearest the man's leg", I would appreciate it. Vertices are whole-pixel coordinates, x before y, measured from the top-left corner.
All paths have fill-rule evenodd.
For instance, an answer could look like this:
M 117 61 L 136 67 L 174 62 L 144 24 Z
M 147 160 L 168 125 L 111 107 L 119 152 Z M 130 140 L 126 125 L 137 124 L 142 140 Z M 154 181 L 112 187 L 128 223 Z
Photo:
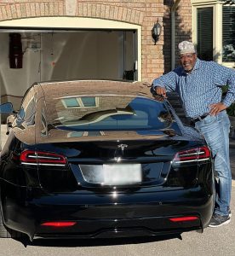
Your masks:
M 190 148 L 175 154 L 174 163 L 209 160 L 210 151 L 208 147 Z

